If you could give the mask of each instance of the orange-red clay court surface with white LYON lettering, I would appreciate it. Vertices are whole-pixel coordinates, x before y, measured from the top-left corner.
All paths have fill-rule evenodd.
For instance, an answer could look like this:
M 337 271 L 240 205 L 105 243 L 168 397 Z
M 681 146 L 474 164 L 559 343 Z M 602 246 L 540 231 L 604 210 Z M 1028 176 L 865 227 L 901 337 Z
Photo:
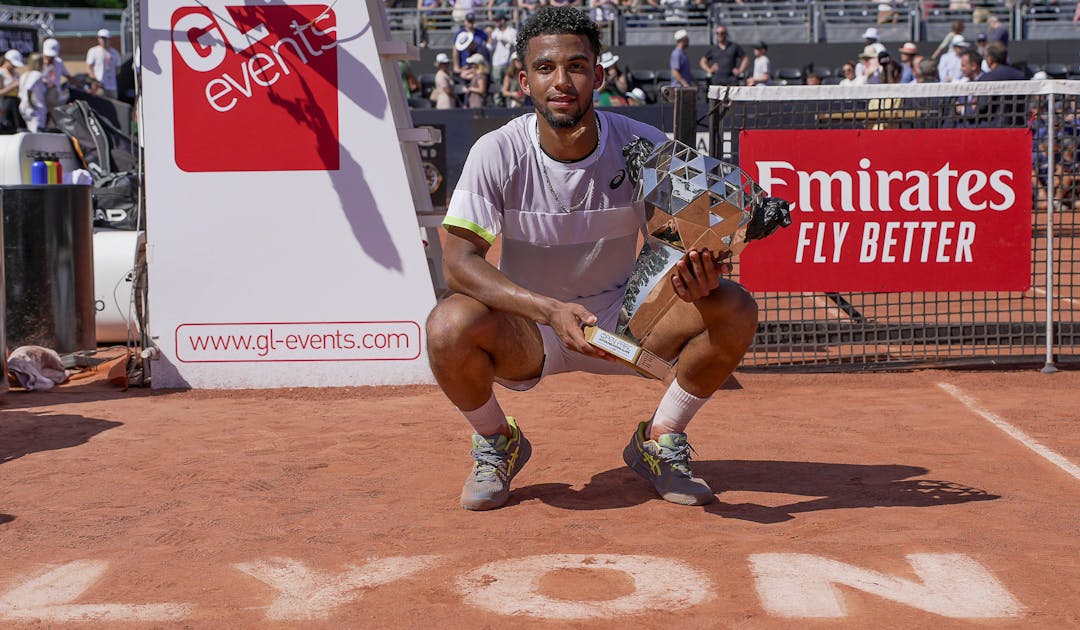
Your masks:
M 434 387 L 9 392 L 0 625 L 1080 627 L 1080 372 L 738 378 L 712 506 L 623 467 L 659 383 L 562 375 L 502 394 L 535 453 L 486 513 Z

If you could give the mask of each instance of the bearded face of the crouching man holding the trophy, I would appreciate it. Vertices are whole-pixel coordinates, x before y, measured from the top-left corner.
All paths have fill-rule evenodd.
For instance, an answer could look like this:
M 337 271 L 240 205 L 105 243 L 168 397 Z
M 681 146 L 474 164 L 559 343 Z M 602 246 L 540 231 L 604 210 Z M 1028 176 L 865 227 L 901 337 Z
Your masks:
M 604 69 L 585 36 L 541 35 L 529 40 L 518 80 L 538 115 L 556 129 L 569 129 L 592 109 Z

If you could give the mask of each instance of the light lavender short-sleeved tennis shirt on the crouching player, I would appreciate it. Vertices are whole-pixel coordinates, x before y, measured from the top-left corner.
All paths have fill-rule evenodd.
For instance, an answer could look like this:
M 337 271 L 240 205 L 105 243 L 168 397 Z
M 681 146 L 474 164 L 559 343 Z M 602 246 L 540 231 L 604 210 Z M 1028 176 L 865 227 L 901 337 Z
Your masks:
M 597 116 L 599 146 L 570 164 L 540 149 L 535 113 L 481 137 L 443 225 L 468 229 L 489 243 L 502 234 L 499 268 L 508 278 L 599 317 L 622 301 L 645 225 L 622 147 L 638 137 L 659 145 L 667 136 L 618 113 Z

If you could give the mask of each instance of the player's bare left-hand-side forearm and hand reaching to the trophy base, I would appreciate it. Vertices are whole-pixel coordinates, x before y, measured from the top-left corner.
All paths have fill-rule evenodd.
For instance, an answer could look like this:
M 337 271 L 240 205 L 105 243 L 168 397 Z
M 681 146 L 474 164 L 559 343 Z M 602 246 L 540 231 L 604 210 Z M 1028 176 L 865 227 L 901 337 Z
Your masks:
M 571 350 L 604 357 L 604 352 L 585 341 L 581 331 L 582 324 L 596 323 L 596 316 L 585 307 L 524 289 L 487 262 L 485 256 L 490 245 L 482 237 L 453 226 L 446 231 L 443 264 L 450 290 L 495 310 L 546 324 Z

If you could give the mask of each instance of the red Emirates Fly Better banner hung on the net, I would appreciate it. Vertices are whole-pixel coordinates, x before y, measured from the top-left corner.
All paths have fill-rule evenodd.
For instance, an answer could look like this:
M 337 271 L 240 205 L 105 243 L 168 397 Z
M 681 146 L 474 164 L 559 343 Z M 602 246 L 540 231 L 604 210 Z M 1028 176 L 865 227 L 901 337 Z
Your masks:
M 1026 129 L 744 131 L 740 165 L 792 202 L 741 254 L 751 291 L 1025 291 Z

